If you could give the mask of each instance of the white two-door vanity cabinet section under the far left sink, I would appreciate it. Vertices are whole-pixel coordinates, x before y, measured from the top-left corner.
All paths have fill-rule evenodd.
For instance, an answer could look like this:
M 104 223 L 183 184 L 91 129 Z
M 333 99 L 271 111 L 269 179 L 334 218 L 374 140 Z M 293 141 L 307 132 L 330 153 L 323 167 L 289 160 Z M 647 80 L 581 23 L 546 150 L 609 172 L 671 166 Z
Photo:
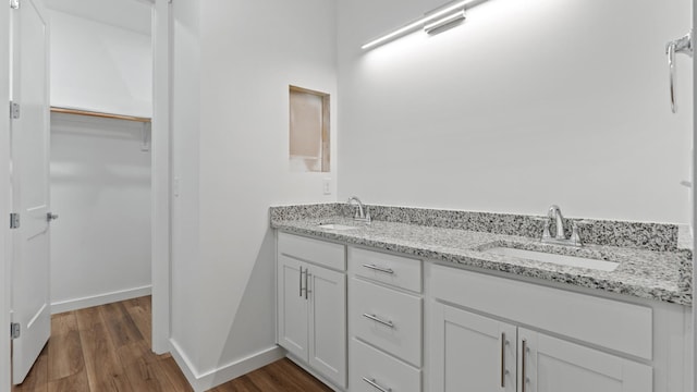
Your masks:
M 278 234 L 278 344 L 346 388 L 345 247 Z

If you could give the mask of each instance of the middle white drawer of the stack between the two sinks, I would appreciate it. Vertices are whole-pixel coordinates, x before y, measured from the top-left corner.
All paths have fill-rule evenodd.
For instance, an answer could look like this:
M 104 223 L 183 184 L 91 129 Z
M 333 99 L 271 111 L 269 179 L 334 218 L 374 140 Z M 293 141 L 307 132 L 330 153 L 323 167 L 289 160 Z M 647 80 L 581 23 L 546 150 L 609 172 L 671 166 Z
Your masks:
M 352 333 L 386 352 L 421 366 L 421 298 L 353 278 L 348 317 Z

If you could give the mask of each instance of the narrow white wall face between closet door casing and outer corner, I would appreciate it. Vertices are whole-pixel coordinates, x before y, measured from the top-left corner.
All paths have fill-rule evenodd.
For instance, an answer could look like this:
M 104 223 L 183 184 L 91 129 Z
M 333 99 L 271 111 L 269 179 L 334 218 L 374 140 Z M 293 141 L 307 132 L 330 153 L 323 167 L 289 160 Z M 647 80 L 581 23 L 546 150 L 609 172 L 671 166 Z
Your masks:
M 199 10 L 198 0 L 172 3 L 172 261 L 171 340 L 197 364 L 205 304 L 198 262 Z M 180 363 L 180 367 L 186 368 Z

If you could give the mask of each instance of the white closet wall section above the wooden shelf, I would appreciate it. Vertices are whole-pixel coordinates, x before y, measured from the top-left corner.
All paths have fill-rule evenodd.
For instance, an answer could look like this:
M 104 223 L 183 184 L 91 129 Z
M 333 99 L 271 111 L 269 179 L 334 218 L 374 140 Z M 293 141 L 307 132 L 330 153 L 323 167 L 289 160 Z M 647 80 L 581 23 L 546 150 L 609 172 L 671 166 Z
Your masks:
M 145 15 L 149 10 L 145 9 Z M 149 34 L 51 11 L 51 105 L 150 117 Z

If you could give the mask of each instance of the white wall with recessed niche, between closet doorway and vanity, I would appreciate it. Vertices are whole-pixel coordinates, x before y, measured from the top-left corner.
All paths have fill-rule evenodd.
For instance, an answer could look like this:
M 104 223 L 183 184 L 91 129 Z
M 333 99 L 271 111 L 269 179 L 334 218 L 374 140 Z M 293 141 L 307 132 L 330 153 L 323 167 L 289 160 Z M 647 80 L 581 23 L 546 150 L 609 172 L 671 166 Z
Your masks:
M 335 160 L 329 174 L 290 172 L 288 100 L 289 85 L 326 91 L 337 113 L 335 2 L 173 7 L 172 340 L 194 377 L 220 383 L 274 347 L 269 206 L 334 199 L 322 195 L 322 179 Z

